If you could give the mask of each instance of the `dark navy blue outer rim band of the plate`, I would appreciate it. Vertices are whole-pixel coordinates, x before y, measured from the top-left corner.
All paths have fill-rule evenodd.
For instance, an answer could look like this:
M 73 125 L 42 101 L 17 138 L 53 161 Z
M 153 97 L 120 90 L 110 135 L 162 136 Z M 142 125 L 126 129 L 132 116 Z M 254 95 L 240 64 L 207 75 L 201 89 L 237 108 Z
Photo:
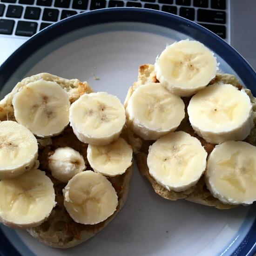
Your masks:
M 224 40 L 212 33 L 208 29 L 174 14 L 164 13 L 162 11 L 144 9 L 144 8 L 107 8 L 94 10 L 87 13 L 80 13 L 61 20 L 53 25 L 43 29 L 35 34 L 23 45 L 21 45 L 10 57 L 0 66 L 0 88 L 8 81 L 11 75 L 20 67 L 30 55 L 34 54 L 40 47 L 48 42 L 67 34 L 71 30 L 88 27 L 92 25 L 112 22 L 141 22 L 154 24 L 161 27 L 179 29 L 181 33 L 186 33 L 195 37 L 195 32 L 201 32 L 203 37 L 200 39 L 202 43 L 210 47 L 214 52 L 219 54 L 222 59 L 229 62 L 229 54 L 231 54 L 233 63 L 232 68 L 242 79 L 243 83 L 253 85 L 256 81 L 256 73 L 247 61 L 233 47 L 229 46 Z M 176 27 L 174 27 L 176 26 Z M 189 27 L 189 31 L 188 31 Z M 211 43 L 209 45 L 209 39 Z M 47 43 L 46 43 L 47 42 Z M 252 88 L 256 93 L 256 88 Z M 0 230 L 0 254 L 20 255 L 17 250 L 8 241 L 2 230 Z M 232 256 L 253 256 L 256 252 L 256 220 L 249 229 L 244 240 L 234 250 Z M 4 242 L 4 243 L 3 243 Z M 12 247 L 10 247 L 12 246 Z M 12 252 L 12 253 L 11 253 Z M 11 253 L 11 254 L 10 254 Z

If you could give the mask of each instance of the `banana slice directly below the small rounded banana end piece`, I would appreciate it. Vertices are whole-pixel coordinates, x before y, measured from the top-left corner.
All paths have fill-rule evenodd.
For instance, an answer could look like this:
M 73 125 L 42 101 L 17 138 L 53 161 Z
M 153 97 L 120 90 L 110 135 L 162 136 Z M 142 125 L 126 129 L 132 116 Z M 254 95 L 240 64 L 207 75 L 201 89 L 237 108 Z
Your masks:
M 118 197 L 106 177 L 93 171 L 75 175 L 63 189 L 64 206 L 71 218 L 82 224 L 96 224 L 111 216 Z

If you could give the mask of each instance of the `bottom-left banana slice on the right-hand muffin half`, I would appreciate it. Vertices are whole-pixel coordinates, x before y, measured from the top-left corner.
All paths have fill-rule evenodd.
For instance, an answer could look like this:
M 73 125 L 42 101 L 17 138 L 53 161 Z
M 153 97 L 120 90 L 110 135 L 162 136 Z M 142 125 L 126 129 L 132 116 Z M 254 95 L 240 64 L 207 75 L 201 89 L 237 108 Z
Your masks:
M 168 190 L 184 191 L 204 173 L 206 157 L 197 138 L 182 131 L 170 133 L 149 147 L 149 174 Z

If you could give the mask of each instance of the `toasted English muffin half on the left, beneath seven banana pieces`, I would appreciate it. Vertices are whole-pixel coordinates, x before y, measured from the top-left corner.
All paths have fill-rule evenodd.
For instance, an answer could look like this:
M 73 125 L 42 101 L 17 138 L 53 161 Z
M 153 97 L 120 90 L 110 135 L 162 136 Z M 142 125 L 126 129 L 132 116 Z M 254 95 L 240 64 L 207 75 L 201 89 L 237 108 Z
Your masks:
M 57 82 L 69 95 L 69 101 L 72 103 L 76 101 L 82 94 L 93 92 L 92 88 L 87 82 L 81 82 L 77 79 L 67 80 L 52 74 L 41 73 L 31 77 L 27 77 L 19 82 L 12 90 L 7 94 L 3 100 L 0 101 L 0 121 L 13 120 L 14 110 L 12 105 L 13 95 L 24 85 L 30 82 L 46 80 Z M 121 136 L 128 141 L 126 128 L 123 129 Z M 87 144 L 79 141 L 73 133 L 70 126 L 64 129 L 64 131 L 51 138 L 38 139 L 39 142 L 39 169 L 46 172 L 54 183 L 55 201 L 56 206 L 51 212 L 51 215 L 47 221 L 35 228 L 27 229 L 27 231 L 38 239 L 40 242 L 54 247 L 54 248 L 69 248 L 77 244 L 80 244 L 96 233 L 101 231 L 121 210 L 126 202 L 129 182 L 132 175 L 132 166 L 130 166 L 123 175 L 116 177 L 109 177 L 109 181 L 112 183 L 118 195 L 118 207 L 115 213 L 108 217 L 107 220 L 95 225 L 83 225 L 76 223 L 67 213 L 64 207 L 62 189 L 66 186 L 66 183 L 56 180 L 48 169 L 48 157 L 53 154 L 54 150 L 59 147 L 71 147 L 79 151 L 83 155 L 85 164 L 88 169 L 92 169 L 87 160 Z

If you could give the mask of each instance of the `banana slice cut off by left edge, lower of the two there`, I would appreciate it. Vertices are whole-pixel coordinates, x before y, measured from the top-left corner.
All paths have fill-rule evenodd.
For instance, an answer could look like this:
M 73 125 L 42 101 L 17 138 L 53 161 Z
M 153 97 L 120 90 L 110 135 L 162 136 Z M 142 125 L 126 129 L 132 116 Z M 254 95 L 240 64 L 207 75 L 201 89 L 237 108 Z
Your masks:
M 55 206 L 54 184 L 38 169 L 0 181 L 0 222 L 12 228 L 40 225 Z

